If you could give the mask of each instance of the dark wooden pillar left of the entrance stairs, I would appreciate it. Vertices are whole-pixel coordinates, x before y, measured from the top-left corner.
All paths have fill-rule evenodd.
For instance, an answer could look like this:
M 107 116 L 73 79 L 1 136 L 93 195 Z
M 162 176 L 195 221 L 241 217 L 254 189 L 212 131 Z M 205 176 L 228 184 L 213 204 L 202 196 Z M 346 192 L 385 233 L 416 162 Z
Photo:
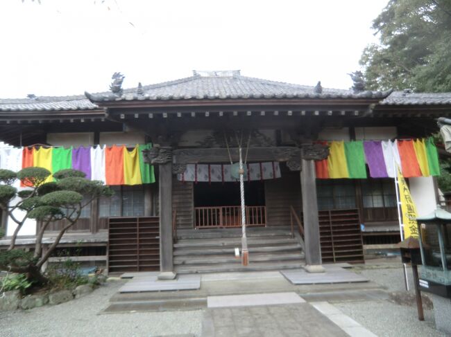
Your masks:
M 173 271 L 172 163 L 159 166 L 160 182 L 160 271 Z

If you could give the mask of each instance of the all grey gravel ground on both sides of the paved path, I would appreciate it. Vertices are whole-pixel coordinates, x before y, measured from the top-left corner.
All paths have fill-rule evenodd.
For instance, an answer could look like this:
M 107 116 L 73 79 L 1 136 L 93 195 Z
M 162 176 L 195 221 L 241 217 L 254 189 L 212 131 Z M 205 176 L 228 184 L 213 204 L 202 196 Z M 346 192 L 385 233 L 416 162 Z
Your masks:
M 386 291 L 405 292 L 400 262 L 382 259 L 355 266 L 352 271 L 384 286 Z M 407 270 L 411 284 L 411 269 Z M 0 314 L 0 336 L 201 336 L 203 311 L 99 314 L 124 281 L 108 282 L 90 295 L 56 306 Z M 413 284 L 411 291 L 413 292 Z M 447 336 L 435 329 L 434 313 L 425 310 L 417 318 L 416 306 L 389 300 L 334 303 L 377 336 Z

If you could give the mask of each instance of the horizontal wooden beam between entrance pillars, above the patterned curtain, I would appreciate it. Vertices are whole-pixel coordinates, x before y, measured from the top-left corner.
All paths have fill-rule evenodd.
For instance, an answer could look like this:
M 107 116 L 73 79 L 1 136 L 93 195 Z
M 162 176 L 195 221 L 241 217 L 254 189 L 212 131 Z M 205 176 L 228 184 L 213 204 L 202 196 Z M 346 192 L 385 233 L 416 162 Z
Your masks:
M 230 149 L 232 158 L 238 158 L 238 149 Z M 248 161 L 289 161 L 293 157 L 300 158 L 298 147 L 250 147 Z M 173 150 L 173 163 L 224 163 L 229 161 L 228 150 L 223 147 L 210 149 L 175 149 Z

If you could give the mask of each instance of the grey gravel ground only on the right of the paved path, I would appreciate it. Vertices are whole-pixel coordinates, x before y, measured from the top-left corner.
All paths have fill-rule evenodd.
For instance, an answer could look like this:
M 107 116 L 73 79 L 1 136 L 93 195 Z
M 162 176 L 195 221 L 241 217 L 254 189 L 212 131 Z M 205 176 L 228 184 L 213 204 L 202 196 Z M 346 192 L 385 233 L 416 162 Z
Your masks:
M 393 263 L 393 260 L 380 264 L 369 262 L 365 266 L 357 266 L 352 271 L 361 273 L 370 280 L 377 282 L 386 288 L 387 291 L 402 293 L 405 292 L 403 269 L 400 262 Z M 407 268 L 410 291 L 414 293 L 411 268 Z M 423 293 L 424 295 L 424 293 Z M 411 306 L 400 305 L 389 300 L 368 301 L 368 302 L 341 302 L 334 303 L 343 313 L 350 316 L 366 329 L 372 331 L 377 336 L 448 336 L 435 329 L 434 311 L 424 310 L 425 320 L 418 320 L 416 304 Z

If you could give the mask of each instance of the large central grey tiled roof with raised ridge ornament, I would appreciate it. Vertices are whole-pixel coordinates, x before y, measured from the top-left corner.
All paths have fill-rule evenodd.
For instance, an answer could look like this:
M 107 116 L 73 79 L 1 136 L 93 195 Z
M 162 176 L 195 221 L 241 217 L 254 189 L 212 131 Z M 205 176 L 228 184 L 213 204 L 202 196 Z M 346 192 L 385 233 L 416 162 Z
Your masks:
M 326 89 L 316 93 L 314 86 L 248 78 L 239 71 L 194 71 L 189 78 L 151 84 L 142 88 L 86 93 L 93 102 L 119 100 L 225 100 L 247 98 L 385 98 L 388 92 Z

